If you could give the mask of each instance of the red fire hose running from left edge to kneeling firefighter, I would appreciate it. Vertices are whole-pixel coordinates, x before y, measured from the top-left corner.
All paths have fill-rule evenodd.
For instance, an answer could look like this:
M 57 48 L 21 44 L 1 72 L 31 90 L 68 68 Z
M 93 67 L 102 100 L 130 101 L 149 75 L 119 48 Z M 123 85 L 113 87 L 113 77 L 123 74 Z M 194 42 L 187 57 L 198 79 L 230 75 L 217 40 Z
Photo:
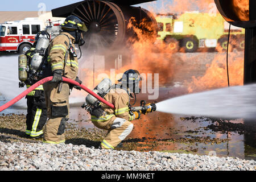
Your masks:
M 70 84 L 73 85 L 77 85 L 80 86 L 83 90 L 85 90 L 86 92 L 88 92 L 89 94 L 91 94 L 93 97 L 97 98 L 97 100 L 103 102 L 104 104 L 108 105 L 109 107 L 111 107 L 112 109 L 114 109 L 114 105 L 111 104 L 110 102 L 104 100 L 104 98 L 101 98 L 100 96 L 98 96 L 96 93 L 92 92 L 92 90 L 88 89 L 86 86 L 79 84 L 79 82 L 71 80 L 69 78 L 65 78 L 62 77 L 64 82 L 68 82 Z M 34 85 L 30 86 L 30 88 L 28 88 L 27 90 L 25 90 L 24 92 L 22 92 L 21 94 L 19 94 L 19 96 L 15 97 L 13 100 L 7 102 L 6 104 L 0 106 L 0 112 L 7 109 L 8 107 L 10 107 L 11 105 L 14 105 L 16 102 L 18 102 L 19 100 L 21 100 L 23 97 L 27 96 L 28 93 L 30 93 L 32 90 L 34 90 L 35 88 L 38 88 L 38 86 L 51 81 L 52 80 L 52 76 L 44 78 L 38 82 L 36 82 Z

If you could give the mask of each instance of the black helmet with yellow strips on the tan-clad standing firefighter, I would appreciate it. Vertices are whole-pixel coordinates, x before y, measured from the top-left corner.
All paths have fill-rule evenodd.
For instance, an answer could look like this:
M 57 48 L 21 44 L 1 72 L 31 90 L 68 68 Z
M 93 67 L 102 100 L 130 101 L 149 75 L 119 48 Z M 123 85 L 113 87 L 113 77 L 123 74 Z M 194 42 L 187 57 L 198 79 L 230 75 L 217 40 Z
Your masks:
M 60 27 L 67 29 L 67 30 L 80 30 L 80 31 L 88 31 L 85 23 L 82 22 L 80 18 L 74 15 L 68 16 L 64 23 L 60 25 Z

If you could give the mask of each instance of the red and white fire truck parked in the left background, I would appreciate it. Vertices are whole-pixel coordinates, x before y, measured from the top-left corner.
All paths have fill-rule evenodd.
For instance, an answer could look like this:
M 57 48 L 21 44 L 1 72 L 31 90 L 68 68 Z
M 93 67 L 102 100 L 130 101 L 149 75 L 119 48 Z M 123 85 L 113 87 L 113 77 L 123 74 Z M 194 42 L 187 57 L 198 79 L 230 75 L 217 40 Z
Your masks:
M 0 51 L 22 52 L 24 47 L 31 48 L 31 39 L 43 28 L 43 22 L 37 18 L 0 24 Z

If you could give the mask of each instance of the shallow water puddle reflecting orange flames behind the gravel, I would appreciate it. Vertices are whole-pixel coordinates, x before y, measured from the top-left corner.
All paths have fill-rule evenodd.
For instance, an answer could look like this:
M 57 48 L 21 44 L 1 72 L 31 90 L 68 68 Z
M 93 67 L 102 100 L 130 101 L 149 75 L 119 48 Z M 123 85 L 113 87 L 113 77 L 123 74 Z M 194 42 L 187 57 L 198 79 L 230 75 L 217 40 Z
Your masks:
M 78 129 L 96 128 L 81 107 L 72 107 L 69 122 Z M 180 152 L 256 160 L 255 122 L 150 113 L 133 121 L 123 150 Z

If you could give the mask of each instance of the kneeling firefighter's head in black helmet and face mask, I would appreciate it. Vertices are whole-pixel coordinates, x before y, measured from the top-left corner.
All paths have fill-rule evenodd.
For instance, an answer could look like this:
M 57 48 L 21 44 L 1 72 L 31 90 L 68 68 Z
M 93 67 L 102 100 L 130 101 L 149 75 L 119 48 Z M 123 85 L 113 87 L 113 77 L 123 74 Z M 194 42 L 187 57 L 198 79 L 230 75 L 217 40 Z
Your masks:
M 129 69 L 125 73 L 123 73 L 123 77 L 118 80 L 122 82 L 122 86 L 125 88 L 129 88 L 133 93 L 139 93 L 139 81 L 141 81 L 141 77 L 139 76 L 139 72 L 134 69 Z

